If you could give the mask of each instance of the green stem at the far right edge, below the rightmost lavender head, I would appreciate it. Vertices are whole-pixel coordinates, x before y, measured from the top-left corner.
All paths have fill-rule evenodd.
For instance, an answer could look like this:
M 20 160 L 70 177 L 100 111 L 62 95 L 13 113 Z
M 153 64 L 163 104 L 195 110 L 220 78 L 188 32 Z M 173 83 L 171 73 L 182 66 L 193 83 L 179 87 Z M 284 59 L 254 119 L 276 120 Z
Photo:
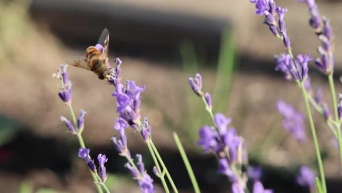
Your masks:
M 329 79 L 329 85 L 330 85 L 330 90 L 331 90 L 333 109 L 334 109 L 334 112 L 335 112 L 335 126 L 336 126 L 336 130 L 337 130 L 337 141 L 338 141 L 338 146 L 339 146 L 339 157 L 340 157 L 341 164 L 342 164 L 341 123 L 339 121 L 339 116 L 338 116 L 336 91 L 335 91 L 335 84 L 333 82 L 333 74 L 332 73 L 328 75 L 328 79 Z

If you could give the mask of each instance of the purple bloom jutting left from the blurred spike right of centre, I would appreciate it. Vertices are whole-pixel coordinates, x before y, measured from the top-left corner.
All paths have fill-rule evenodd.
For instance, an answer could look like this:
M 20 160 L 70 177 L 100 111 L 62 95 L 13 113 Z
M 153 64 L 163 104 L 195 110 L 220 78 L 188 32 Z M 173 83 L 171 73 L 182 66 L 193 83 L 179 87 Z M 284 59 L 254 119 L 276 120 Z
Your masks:
M 199 129 L 199 141 L 198 145 L 203 147 L 204 152 L 213 150 L 215 152 L 220 151 L 221 147 L 218 141 L 218 134 L 214 127 L 204 125 Z

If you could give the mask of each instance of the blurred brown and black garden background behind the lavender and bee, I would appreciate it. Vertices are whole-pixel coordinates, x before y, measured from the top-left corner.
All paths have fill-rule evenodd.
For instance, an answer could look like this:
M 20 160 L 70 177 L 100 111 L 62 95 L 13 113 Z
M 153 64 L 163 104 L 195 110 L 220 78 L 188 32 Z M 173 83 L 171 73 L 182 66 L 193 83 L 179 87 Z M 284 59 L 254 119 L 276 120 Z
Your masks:
M 342 3 L 316 0 L 331 19 L 335 33 L 336 77 L 342 73 Z M 317 57 L 320 44 L 308 26 L 308 11 L 295 0 L 287 7 L 286 26 L 294 53 Z M 52 78 L 66 60 L 84 56 L 104 28 L 110 33 L 110 61 L 123 61 L 125 80 L 146 85 L 142 115 L 149 117 L 153 139 L 180 192 L 192 192 L 172 138 L 176 131 L 188 152 L 203 192 L 230 192 L 217 174 L 215 157 L 196 146 L 198 129 L 210 124 L 189 85 L 200 72 L 204 91 L 213 96 L 215 112 L 233 118 L 246 139 L 251 165 L 262 165 L 262 181 L 275 192 L 308 192 L 294 182 L 301 164 L 315 165 L 312 141 L 298 144 L 282 128 L 276 113 L 279 98 L 304 112 L 300 91 L 274 71 L 274 54 L 284 52 L 255 16 L 249 1 L 234 0 L 8 0 L 0 2 L 0 187 L 1 192 L 94 192 L 77 139 L 66 132 L 59 116 L 69 116 Z M 313 64 L 311 64 L 313 65 Z M 112 192 L 139 192 L 110 141 L 117 117 L 113 87 L 92 72 L 68 67 L 73 82 L 73 107 L 86 114 L 84 140 L 92 157 L 105 153 Z M 329 99 L 327 80 L 313 66 L 314 88 Z M 336 80 L 337 91 L 341 85 Z M 329 192 L 339 192 L 339 159 L 332 135 L 314 113 L 323 151 Z M 310 138 L 307 127 L 307 135 Z M 141 137 L 128 131 L 133 154 L 141 153 L 149 172 L 153 162 Z M 155 179 L 158 192 L 160 181 Z

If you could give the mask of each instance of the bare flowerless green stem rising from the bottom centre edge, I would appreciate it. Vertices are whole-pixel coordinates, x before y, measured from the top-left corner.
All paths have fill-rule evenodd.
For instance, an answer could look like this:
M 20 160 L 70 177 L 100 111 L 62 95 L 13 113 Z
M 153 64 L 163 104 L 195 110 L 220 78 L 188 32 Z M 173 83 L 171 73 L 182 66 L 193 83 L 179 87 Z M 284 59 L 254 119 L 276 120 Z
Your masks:
M 181 144 L 181 141 L 180 141 L 180 139 L 179 139 L 179 137 L 178 137 L 176 132 L 173 132 L 173 139 L 174 139 L 175 143 L 177 144 L 177 147 L 178 147 L 179 153 L 181 155 L 181 158 L 184 161 L 184 164 L 185 164 L 187 173 L 189 174 L 189 177 L 190 177 L 193 189 L 195 190 L 196 193 L 200 193 L 199 186 L 198 186 L 198 183 L 197 183 L 197 180 L 196 180 L 196 176 L 193 173 L 190 161 L 187 158 L 187 155 L 186 155 L 186 152 L 184 150 L 184 147 Z

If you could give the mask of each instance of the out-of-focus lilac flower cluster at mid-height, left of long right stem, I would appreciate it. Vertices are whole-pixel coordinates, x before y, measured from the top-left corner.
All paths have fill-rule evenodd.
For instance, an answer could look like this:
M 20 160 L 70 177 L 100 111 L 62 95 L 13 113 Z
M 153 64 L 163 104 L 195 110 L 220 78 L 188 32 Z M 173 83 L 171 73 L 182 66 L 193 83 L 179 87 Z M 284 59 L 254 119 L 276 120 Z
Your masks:
M 289 131 L 298 142 L 306 141 L 304 116 L 296 111 L 292 105 L 283 100 L 276 104 L 278 112 L 283 116 L 283 127 Z

